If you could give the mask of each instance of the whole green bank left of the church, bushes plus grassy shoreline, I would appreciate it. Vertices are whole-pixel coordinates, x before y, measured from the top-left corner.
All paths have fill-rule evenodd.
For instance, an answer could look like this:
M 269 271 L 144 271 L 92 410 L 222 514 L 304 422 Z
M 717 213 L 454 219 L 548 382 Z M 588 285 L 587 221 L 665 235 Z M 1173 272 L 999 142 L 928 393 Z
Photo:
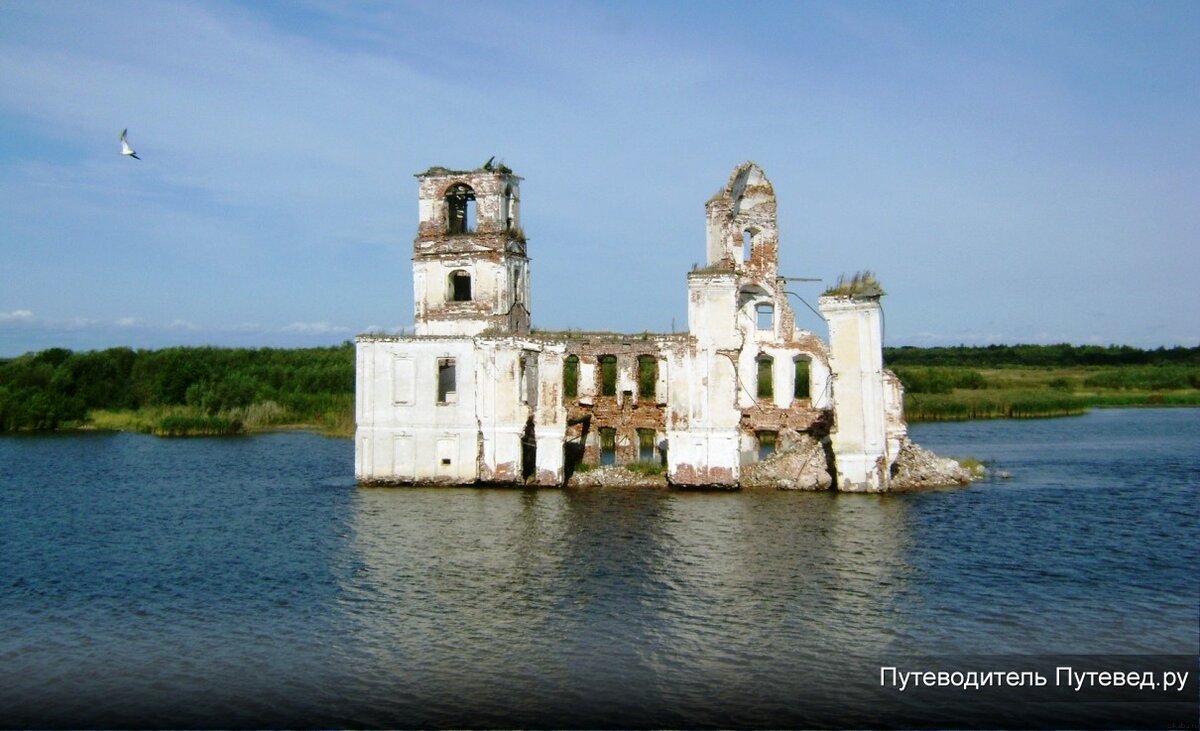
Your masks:
M 0 361 L 0 432 L 104 429 L 161 436 L 354 431 L 354 346 L 52 348 Z

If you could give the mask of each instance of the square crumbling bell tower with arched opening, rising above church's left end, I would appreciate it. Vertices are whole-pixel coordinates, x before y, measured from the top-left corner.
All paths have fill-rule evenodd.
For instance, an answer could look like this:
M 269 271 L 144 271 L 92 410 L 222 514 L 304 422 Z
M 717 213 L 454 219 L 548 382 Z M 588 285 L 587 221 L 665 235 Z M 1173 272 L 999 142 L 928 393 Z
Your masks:
M 521 228 L 521 178 L 488 160 L 474 170 L 432 167 L 416 180 L 416 335 L 528 332 L 529 257 Z

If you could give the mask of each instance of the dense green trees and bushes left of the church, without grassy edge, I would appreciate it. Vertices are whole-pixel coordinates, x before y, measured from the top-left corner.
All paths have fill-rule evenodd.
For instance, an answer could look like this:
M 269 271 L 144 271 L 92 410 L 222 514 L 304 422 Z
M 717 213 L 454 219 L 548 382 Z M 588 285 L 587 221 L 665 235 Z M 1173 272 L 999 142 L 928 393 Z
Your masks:
M 205 414 L 271 402 L 319 413 L 354 393 L 354 347 L 50 348 L 0 360 L 0 431 L 54 430 L 92 409 L 188 406 Z M 337 399 L 342 396 L 342 399 Z

